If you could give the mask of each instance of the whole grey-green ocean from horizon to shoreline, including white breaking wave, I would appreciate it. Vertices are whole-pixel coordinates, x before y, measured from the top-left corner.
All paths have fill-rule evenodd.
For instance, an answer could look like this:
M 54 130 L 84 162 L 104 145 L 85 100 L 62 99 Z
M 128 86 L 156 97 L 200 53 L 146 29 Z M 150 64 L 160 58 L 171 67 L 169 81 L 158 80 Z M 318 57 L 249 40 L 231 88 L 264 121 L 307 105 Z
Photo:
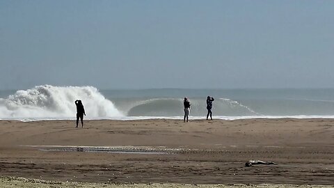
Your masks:
M 191 102 L 190 119 L 203 119 L 208 95 L 215 99 L 216 119 L 334 118 L 333 88 L 99 90 L 45 85 L 0 91 L 0 119 L 74 119 L 77 99 L 84 104 L 85 119 L 182 119 L 184 97 Z

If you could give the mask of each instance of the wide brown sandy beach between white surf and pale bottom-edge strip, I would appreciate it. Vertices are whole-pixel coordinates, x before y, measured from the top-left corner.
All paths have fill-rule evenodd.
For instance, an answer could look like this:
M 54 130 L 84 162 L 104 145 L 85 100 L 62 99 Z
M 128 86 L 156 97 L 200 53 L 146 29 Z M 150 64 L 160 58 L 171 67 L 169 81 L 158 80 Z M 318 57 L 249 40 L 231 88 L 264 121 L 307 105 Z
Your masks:
M 108 184 L 334 185 L 332 119 L 85 123 L 75 128 L 70 120 L 1 120 L 0 176 Z M 113 152 L 81 146 L 109 146 Z M 250 159 L 278 165 L 244 166 Z M 2 187 L 16 181 L 6 180 Z

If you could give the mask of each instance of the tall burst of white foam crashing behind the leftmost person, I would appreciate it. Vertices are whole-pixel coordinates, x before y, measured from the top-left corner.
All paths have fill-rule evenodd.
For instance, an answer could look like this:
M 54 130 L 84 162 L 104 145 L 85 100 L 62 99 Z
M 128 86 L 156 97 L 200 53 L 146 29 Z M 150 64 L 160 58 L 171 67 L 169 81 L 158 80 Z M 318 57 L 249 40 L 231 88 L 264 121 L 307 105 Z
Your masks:
M 74 100 L 82 100 L 88 118 L 123 116 L 93 86 L 35 86 L 0 98 L 0 118 L 67 118 L 76 114 Z

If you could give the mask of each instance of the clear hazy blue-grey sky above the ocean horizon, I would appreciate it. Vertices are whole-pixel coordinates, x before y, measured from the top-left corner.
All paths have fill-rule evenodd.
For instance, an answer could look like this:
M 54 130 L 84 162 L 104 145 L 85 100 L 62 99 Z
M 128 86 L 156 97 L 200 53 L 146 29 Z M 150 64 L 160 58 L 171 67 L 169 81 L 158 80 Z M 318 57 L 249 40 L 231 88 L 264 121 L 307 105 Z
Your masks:
M 334 88 L 334 1 L 0 1 L 0 89 Z

